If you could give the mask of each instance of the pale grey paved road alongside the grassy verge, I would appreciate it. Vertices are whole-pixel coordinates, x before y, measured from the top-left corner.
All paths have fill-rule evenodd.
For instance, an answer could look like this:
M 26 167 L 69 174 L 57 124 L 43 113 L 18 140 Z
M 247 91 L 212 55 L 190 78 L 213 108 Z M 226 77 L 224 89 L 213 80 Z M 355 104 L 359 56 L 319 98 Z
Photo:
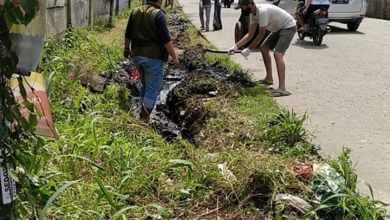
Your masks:
M 199 0 L 180 1 L 199 27 Z M 221 14 L 223 29 L 204 36 L 218 49 L 228 49 L 240 12 L 222 8 Z M 356 32 L 348 32 L 345 24 L 330 25 L 332 31 L 321 46 L 297 35 L 293 39 L 285 54 L 286 86 L 292 95 L 277 102 L 297 112 L 307 110 L 311 122 L 306 127 L 314 131 L 313 142 L 324 154 L 352 148 L 360 179 L 373 186 L 375 199 L 390 203 L 390 21 L 366 18 Z M 240 54 L 232 58 L 255 78 L 265 76 L 260 52 L 248 60 Z

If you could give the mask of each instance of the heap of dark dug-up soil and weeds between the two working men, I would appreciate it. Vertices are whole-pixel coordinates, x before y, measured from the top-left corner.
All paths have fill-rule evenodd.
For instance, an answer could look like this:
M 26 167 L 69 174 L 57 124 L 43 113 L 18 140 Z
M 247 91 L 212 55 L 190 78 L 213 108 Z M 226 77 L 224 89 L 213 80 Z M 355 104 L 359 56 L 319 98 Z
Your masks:
M 188 50 L 183 66 L 188 75 L 168 94 L 165 115 L 182 127 L 182 136 L 193 140 L 214 112 L 207 106 L 211 99 L 225 101 L 242 96 L 243 86 L 254 83 L 242 71 L 231 72 L 219 61 L 201 60 L 199 51 Z

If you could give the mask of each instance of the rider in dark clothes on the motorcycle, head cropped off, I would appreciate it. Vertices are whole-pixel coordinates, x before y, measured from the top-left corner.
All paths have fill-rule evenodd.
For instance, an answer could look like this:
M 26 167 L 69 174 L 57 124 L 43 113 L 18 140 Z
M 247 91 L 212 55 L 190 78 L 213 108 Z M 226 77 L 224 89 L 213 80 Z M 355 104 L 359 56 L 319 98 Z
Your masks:
M 307 23 L 308 23 L 309 15 L 319 8 L 326 8 L 327 11 L 327 9 L 329 9 L 330 6 L 329 1 L 330 0 L 305 0 L 304 6 L 300 7 L 298 11 L 296 11 L 296 14 L 299 15 L 297 16 L 298 22 L 302 24 L 301 22 L 303 21 L 303 25 L 299 29 L 299 31 L 307 31 L 308 28 Z M 299 19 L 300 15 L 302 19 Z

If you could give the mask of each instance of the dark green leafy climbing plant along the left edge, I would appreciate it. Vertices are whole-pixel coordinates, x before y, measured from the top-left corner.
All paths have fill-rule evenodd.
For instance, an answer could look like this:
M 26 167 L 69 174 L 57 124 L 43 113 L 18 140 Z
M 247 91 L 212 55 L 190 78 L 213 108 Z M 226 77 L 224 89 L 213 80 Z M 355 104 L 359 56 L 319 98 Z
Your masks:
M 38 0 L 5 0 L 0 4 L 0 161 L 1 166 L 9 170 L 9 174 L 17 183 L 18 198 L 16 207 L 12 203 L 11 218 L 25 217 L 29 212 L 36 215 L 40 197 L 46 197 L 48 191 L 40 188 L 36 166 L 42 157 L 47 157 L 43 148 L 44 139 L 34 135 L 37 115 L 41 112 L 27 99 L 26 89 L 22 83 L 20 69 L 16 68 L 18 57 L 11 51 L 9 29 L 13 24 L 27 25 L 39 8 Z M 18 74 L 18 76 L 13 76 Z M 19 91 L 23 97 L 20 103 L 15 100 L 9 79 L 16 77 Z M 28 119 L 20 110 L 29 110 Z M 40 152 L 40 153 L 38 153 Z

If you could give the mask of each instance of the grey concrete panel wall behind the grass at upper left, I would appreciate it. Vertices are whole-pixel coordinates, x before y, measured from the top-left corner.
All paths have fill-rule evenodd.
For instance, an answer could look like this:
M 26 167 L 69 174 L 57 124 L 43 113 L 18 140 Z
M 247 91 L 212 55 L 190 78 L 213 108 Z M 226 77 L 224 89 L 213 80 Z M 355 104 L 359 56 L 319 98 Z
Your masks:
M 109 13 L 115 10 L 116 0 L 47 0 L 46 38 L 53 36 L 61 41 L 67 22 L 72 26 L 84 26 L 89 20 L 89 3 L 92 1 L 93 20 L 109 21 Z M 129 0 L 119 0 L 119 10 L 128 6 Z M 111 4 L 112 8 L 111 8 Z

